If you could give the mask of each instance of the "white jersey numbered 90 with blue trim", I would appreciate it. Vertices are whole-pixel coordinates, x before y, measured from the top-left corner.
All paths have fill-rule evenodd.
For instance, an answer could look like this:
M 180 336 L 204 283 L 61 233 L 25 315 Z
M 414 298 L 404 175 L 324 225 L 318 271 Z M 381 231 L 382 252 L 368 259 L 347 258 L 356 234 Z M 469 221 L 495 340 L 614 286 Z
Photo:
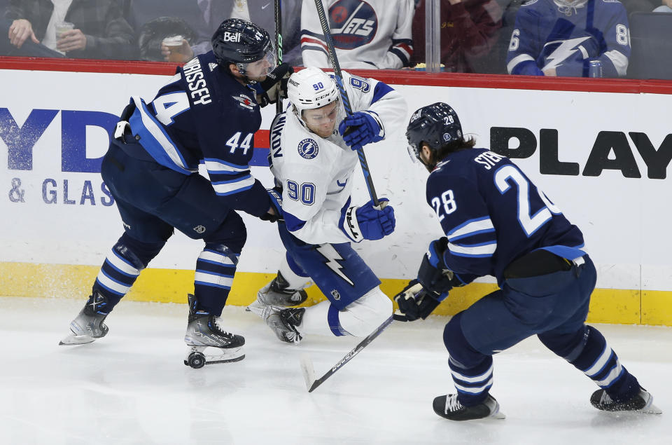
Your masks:
M 398 92 L 372 78 L 346 71 L 343 77 L 353 111 L 378 114 L 385 136 L 404 125 L 407 106 Z M 269 165 L 276 182 L 282 184 L 285 223 L 290 233 L 308 244 L 362 240 L 360 234 L 348 236 L 339 227 L 353 206 L 352 176 L 359 163 L 357 152 L 343 142 L 337 130 L 343 118 L 341 104 L 334 134 L 326 139 L 308 130 L 291 107 L 276 116 L 271 126 Z

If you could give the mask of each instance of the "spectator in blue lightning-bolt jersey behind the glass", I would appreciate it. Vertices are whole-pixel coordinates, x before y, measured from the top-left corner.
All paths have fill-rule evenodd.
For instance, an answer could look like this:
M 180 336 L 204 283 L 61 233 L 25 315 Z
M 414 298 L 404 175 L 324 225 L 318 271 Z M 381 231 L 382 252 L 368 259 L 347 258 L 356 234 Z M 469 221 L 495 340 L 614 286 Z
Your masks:
M 630 57 L 628 27 L 618 1 L 530 1 L 516 15 L 507 71 L 587 77 L 589 62 L 599 61 L 603 77 L 623 77 Z

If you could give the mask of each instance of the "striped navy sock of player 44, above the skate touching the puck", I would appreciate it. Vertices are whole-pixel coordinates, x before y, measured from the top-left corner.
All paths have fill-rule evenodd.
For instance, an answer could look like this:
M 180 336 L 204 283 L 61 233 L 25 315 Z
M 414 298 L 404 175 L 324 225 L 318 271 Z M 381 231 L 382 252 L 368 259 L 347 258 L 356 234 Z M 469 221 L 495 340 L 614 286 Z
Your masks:
M 239 253 L 232 252 L 225 245 L 205 245 L 196 261 L 194 278 L 194 295 L 198 300 L 198 309 L 217 317 L 222 315 L 239 256 Z

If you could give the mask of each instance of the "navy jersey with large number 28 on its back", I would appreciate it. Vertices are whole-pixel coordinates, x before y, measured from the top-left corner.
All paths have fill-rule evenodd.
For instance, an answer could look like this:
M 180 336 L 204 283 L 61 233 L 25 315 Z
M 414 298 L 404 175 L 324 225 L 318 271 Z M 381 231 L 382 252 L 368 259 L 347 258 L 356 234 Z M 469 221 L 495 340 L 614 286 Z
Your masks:
M 501 283 L 506 266 L 535 249 L 570 260 L 585 254 L 581 231 L 509 158 L 486 149 L 439 163 L 427 203 L 448 238 L 444 260 L 465 282 L 493 275 Z

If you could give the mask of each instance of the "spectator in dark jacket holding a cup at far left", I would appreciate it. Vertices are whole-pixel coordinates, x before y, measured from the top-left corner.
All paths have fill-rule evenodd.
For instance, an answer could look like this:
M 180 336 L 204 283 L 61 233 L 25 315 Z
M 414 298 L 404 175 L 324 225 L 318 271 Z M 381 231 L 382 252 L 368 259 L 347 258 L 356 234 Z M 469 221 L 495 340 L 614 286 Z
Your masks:
M 31 55 L 41 51 L 76 58 L 133 58 L 133 30 L 122 14 L 118 0 L 10 0 L 5 13 L 11 22 L 8 54 L 27 55 L 21 48 L 30 41 Z M 58 22 L 74 27 L 58 37 Z

